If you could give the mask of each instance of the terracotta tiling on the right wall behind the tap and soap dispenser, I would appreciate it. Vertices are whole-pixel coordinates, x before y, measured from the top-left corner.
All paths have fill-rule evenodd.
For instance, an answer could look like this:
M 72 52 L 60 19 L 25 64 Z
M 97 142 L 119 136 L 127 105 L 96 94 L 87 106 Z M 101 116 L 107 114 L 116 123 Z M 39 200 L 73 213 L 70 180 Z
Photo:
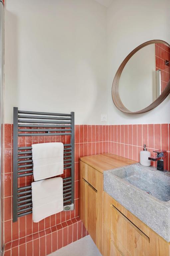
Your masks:
M 108 152 L 139 161 L 143 144 L 148 150 L 167 150 L 167 169 L 170 170 L 170 125 L 130 124 L 108 126 Z M 152 162 L 151 162 L 152 164 Z M 156 162 L 155 162 L 156 166 Z

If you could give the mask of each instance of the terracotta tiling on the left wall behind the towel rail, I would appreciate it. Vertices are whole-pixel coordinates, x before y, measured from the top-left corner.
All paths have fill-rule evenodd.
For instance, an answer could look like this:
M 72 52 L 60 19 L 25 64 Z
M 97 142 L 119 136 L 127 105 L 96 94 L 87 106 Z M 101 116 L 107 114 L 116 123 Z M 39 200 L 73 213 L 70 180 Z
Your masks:
M 32 214 L 20 217 L 12 222 L 12 152 L 13 125 L 5 124 L 4 150 L 4 188 L 3 188 L 3 225 L 5 256 L 48 255 L 69 243 L 86 235 L 85 227 L 79 219 L 79 157 L 107 152 L 108 126 L 76 125 L 75 126 L 75 210 L 52 215 L 39 223 L 32 222 Z M 19 146 L 30 146 L 44 142 L 69 143 L 69 136 L 33 136 L 19 137 Z M 62 177 L 70 175 L 65 170 Z M 32 176 L 19 178 L 19 186 L 29 185 Z M 12 254 L 11 254 L 12 253 Z

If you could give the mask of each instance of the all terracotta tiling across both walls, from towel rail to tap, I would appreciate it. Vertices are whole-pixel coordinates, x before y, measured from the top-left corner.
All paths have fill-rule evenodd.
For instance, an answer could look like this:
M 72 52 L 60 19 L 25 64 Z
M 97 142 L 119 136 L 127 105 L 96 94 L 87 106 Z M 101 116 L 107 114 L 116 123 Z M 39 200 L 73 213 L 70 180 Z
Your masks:
M 69 138 L 62 136 L 65 143 Z M 146 144 L 149 151 L 167 150 L 168 169 L 170 169 L 170 125 L 76 125 L 75 126 L 75 211 L 52 215 L 39 223 L 32 222 L 32 215 L 20 217 L 12 223 L 12 125 L 5 124 L 4 150 L 4 188 L 3 225 L 5 256 L 48 255 L 86 235 L 85 227 L 79 219 L 79 157 L 101 153 L 113 153 L 139 161 L 139 152 Z M 58 136 L 47 138 L 28 137 L 21 145 L 59 141 Z M 68 175 L 67 171 L 64 174 Z M 21 180 L 30 184 L 32 177 Z

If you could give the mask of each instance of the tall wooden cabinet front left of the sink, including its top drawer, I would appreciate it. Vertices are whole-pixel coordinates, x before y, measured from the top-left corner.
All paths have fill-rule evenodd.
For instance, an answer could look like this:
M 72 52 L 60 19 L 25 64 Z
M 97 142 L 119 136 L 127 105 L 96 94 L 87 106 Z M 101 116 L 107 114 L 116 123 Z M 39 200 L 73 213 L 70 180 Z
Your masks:
M 103 175 L 82 161 L 80 170 L 80 218 L 102 253 Z

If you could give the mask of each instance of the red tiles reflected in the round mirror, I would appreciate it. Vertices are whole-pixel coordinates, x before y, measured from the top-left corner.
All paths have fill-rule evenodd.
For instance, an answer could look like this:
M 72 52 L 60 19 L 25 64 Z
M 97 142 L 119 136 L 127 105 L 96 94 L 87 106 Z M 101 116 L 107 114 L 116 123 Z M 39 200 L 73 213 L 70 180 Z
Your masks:
M 166 88 L 170 80 L 170 63 L 165 65 L 165 60 L 170 61 L 170 48 L 165 44 L 155 44 L 156 70 L 161 70 L 161 92 Z

